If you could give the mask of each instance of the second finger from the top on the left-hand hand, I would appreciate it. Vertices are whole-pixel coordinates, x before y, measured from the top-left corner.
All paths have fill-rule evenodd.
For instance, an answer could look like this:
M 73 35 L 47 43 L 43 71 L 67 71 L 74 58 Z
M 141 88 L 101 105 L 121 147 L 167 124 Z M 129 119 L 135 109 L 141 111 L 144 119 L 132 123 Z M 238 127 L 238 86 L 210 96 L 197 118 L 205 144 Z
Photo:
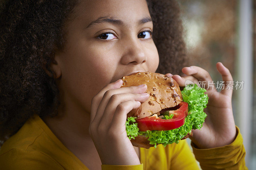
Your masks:
M 147 90 L 147 85 L 144 84 L 143 86 L 130 86 L 130 87 L 123 87 L 123 88 L 111 89 L 106 91 L 100 101 L 99 107 L 96 111 L 96 115 L 93 120 L 96 120 L 96 122 L 100 121 L 111 96 L 115 94 L 121 94 L 121 93 L 139 93 L 140 94 L 140 93 L 144 93 L 146 90 Z

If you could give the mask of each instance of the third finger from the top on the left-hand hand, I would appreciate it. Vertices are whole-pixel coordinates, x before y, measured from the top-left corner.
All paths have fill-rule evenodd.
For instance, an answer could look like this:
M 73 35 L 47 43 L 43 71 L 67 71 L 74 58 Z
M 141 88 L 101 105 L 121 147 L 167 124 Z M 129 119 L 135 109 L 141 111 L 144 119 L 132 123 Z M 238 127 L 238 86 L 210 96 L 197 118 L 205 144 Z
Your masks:
M 116 111 L 116 108 L 119 104 L 128 101 L 134 100 L 140 103 L 145 102 L 149 97 L 148 93 L 143 94 L 132 94 L 132 93 L 124 93 L 124 94 L 116 94 L 110 97 L 108 104 L 104 110 L 104 113 L 101 117 L 100 124 L 104 122 L 105 124 L 110 124 L 112 117 Z M 127 114 L 127 113 L 126 113 Z

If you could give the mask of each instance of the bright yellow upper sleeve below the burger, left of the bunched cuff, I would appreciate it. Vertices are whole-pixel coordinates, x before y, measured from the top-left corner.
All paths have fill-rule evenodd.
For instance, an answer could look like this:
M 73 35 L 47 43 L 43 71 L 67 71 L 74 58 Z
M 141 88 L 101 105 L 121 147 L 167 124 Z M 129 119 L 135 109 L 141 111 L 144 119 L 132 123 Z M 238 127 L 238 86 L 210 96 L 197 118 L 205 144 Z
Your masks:
M 168 165 L 168 169 L 172 170 L 185 170 L 185 169 L 199 169 L 194 154 L 188 146 L 186 140 L 180 140 L 179 144 L 171 147 L 171 145 L 167 145 L 165 148 L 168 149 L 166 152 L 168 154 L 168 162 L 171 162 Z M 171 160 L 170 160 L 171 159 Z

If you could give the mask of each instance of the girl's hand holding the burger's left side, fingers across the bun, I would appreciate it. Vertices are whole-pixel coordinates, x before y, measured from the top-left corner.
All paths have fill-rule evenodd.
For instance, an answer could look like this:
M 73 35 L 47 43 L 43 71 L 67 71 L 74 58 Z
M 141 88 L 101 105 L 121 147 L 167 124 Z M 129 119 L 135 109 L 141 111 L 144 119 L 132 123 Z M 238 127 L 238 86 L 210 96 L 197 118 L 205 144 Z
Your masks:
M 127 113 L 148 99 L 148 93 L 142 94 L 147 85 L 120 88 L 122 84 L 110 83 L 92 98 L 89 132 L 102 164 L 139 165 L 125 122 Z

